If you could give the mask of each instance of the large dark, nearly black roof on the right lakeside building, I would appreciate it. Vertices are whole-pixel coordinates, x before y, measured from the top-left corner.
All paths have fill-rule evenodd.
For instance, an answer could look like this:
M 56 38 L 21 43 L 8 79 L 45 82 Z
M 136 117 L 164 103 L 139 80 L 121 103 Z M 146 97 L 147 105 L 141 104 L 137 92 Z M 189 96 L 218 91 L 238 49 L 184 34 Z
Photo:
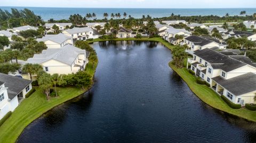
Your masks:
M 233 71 L 247 65 L 242 61 L 238 61 L 235 58 L 231 58 L 217 51 L 213 51 L 210 48 L 197 50 L 194 54 L 208 63 L 211 63 L 213 69 L 221 69 L 226 72 Z

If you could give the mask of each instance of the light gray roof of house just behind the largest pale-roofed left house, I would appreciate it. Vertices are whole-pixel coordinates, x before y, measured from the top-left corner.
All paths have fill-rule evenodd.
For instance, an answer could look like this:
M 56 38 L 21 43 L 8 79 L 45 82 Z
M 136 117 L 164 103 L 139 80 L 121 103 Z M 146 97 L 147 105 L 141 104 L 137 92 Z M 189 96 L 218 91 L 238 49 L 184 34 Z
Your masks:
M 57 35 L 45 35 L 42 38 L 37 38 L 36 40 L 39 41 L 47 41 L 47 40 L 51 40 L 54 41 L 55 43 L 61 44 L 64 41 L 66 41 L 67 39 L 71 39 L 71 37 L 64 35 L 63 33 L 59 33 Z

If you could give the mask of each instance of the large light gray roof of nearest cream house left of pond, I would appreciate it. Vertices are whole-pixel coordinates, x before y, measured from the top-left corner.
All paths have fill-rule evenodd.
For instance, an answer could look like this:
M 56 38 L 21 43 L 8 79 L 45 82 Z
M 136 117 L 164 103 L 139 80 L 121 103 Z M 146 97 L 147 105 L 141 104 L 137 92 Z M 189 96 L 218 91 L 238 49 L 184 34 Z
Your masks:
M 26 63 L 41 64 L 49 60 L 56 60 L 71 65 L 79 54 L 84 54 L 85 50 L 65 45 L 61 48 L 48 48 L 41 54 L 35 54 L 33 58 L 28 58 Z

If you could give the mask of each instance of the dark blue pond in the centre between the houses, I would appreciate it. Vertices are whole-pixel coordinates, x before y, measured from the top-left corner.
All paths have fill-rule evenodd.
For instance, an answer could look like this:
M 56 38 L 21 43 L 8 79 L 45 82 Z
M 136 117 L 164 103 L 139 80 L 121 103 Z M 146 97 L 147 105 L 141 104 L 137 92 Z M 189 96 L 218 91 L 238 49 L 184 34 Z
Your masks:
M 93 88 L 31 123 L 17 142 L 256 142 L 256 124 L 204 104 L 160 43 L 94 43 Z

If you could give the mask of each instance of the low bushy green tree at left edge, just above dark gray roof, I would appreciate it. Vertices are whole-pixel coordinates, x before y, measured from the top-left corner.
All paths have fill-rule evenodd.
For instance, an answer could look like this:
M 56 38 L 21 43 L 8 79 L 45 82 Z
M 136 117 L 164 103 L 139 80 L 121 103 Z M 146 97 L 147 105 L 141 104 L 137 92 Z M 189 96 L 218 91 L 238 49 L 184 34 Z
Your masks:
M 0 72 L 1 73 L 15 73 L 20 69 L 21 65 L 17 63 L 0 63 Z

